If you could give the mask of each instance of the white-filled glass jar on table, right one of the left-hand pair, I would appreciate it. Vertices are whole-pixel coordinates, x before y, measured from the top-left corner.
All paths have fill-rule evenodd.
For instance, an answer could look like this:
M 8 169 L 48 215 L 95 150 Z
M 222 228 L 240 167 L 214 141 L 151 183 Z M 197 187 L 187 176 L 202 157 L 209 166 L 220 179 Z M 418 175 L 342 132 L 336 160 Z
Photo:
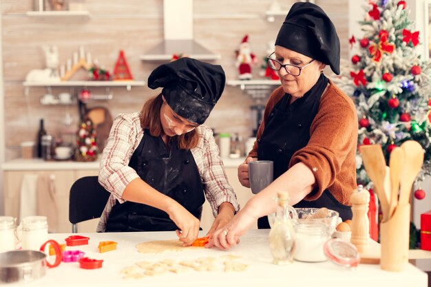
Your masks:
M 46 216 L 28 216 L 21 221 L 21 246 L 23 249 L 37 250 L 48 240 L 48 220 Z

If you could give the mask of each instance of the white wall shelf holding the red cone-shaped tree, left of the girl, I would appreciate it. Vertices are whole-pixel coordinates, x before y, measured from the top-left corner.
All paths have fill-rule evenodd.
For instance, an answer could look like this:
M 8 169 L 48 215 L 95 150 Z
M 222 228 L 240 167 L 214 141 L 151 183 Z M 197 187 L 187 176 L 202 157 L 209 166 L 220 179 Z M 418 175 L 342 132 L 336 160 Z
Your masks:
M 28 96 L 30 87 L 143 87 L 145 81 L 63 81 L 63 82 L 24 82 L 25 96 Z

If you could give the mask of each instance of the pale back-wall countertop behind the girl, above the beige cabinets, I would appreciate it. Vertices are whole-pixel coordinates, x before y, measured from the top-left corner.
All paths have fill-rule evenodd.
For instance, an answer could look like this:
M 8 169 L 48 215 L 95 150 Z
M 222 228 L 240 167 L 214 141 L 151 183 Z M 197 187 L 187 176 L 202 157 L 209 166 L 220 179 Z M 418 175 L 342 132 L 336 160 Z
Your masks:
M 244 158 L 223 158 L 224 167 L 237 168 Z M 3 171 L 59 171 L 59 170 L 97 170 L 99 169 L 100 162 L 74 162 L 72 160 L 59 160 L 59 161 L 46 161 L 41 158 L 34 158 L 31 160 L 24 160 L 17 158 L 4 162 L 1 165 Z

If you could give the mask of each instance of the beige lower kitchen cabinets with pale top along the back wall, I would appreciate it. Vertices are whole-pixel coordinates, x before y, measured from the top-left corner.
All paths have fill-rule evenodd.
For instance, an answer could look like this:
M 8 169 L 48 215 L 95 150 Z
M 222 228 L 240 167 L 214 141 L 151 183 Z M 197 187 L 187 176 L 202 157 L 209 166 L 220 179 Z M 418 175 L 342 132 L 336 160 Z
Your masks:
M 233 190 L 237 194 L 238 202 L 244 206 L 245 202 L 253 196 L 250 189 L 242 187 L 238 181 L 237 167 L 244 161 L 243 158 L 224 160 L 227 177 Z M 3 204 L 5 215 L 19 219 L 21 184 L 25 174 L 35 174 L 51 178 L 55 186 L 55 202 L 57 204 L 58 224 L 50 226 L 59 233 L 70 233 L 72 224 L 69 222 L 69 191 L 78 178 L 84 176 L 97 176 L 99 162 L 45 162 L 40 159 L 12 160 L 3 164 Z M 19 219 L 20 220 L 20 219 Z M 202 211 L 201 226 L 209 231 L 214 217 L 211 206 L 206 201 Z M 94 232 L 98 219 L 88 220 L 78 224 L 79 232 Z M 51 229 L 51 228 L 50 228 Z

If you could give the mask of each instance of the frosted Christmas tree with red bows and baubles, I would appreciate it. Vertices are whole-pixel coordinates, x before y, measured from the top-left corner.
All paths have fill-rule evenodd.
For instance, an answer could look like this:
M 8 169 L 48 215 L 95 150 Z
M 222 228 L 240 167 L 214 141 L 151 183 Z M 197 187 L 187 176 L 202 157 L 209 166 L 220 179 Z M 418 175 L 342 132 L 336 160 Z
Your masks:
M 358 145 L 381 145 L 386 162 L 394 147 L 416 140 L 425 151 L 419 180 L 431 174 L 430 61 L 417 52 L 419 32 L 412 30 L 406 1 L 367 1 L 364 35 L 350 38 L 357 52 L 342 65 L 335 82 L 355 102 L 359 117 Z M 357 154 L 357 182 L 370 180 Z

